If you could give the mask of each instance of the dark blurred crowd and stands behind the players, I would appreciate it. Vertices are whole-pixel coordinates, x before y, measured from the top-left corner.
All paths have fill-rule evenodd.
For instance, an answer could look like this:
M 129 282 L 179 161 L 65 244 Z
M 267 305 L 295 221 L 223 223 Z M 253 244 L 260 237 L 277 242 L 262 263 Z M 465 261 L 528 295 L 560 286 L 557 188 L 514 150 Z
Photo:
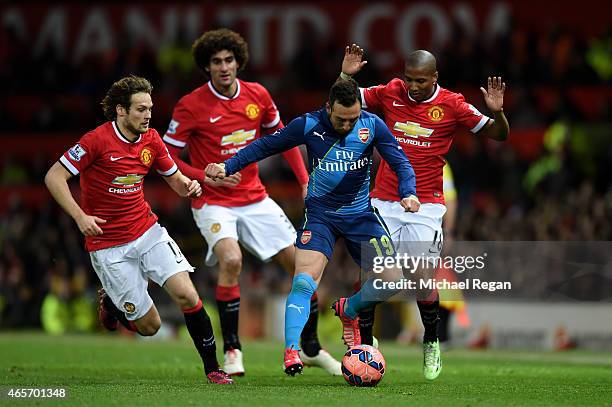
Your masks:
M 149 10 L 147 4 L 136 3 L 136 11 L 116 4 L 7 3 L 0 7 L 0 142 L 4 144 L 0 153 L 0 329 L 39 327 L 44 323 L 41 309 L 45 307 L 47 312 L 64 313 L 72 321 L 69 329 L 89 330 L 96 324 L 92 312 L 98 281 L 82 236 L 52 202 L 43 177 L 61 152 L 103 122 L 99 103 L 113 81 L 128 74 L 151 80 L 155 88 L 152 123 L 163 134 L 174 103 L 204 81 L 191 58 L 192 41 L 206 29 L 229 26 L 250 43 L 252 61 L 242 78 L 263 83 L 288 123 L 325 102 L 338 76 L 344 46 L 359 40 L 355 26 L 366 20 L 349 25 L 343 19 L 357 18 L 360 11 L 363 16 L 372 9 L 361 1 L 312 2 L 305 11 L 306 6 L 274 1 L 247 4 L 235 8 L 155 4 Z M 400 49 L 391 37 L 398 42 L 397 37 L 408 32 L 401 29 L 406 30 L 407 16 L 413 14 L 419 18 L 410 20 L 415 24 L 409 31 L 410 45 L 435 53 L 443 87 L 462 92 L 470 103 L 487 112 L 479 91 L 486 86 L 487 76 L 503 76 L 508 84 L 504 110 L 510 140 L 496 143 L 459 132 L 448 156 L 459 202 L 452 237 L 611 240 L 612 30 L 605 16 L 590 18 L 586 5 L 577 10 L 571 3 L 564 6 L 552 1 L 530 10 L 525 10 L 527 3 L 523 2 L 468 1 L 461 7 L 452 2 L 419 3 L 441 13 L 444 36 L 436 35 L 441 31 L 436 24 L 441 23 L 432 9 L 427 9 L 429 14 L 410 14 L 416 10 L 410 9 L 411 3 L 377 4 L 380 9 L 372 9 L 373 15 L 378 10 L 381 17 L 368 20 L 369 28 L 382 33 L 360 44 L 369 61 L 356 77 L 362 86 L 385 83 L 401 74 L 406 45 Z M 295 38 L 285 38 L 281 44 L 276 40 L 283 29 L 278 20 L 268 14 L 269 18 L 257 21 L 241 20 L 249 7 L 262 15 L 279 7 L 287 15 L 301 10 L 306 18 L 292 31 L 297 33 Z M 547 7 L 555 9 L 552 15 L 545 12 Z M 202 21 L 189 27 L 199 30 L 178 30 L 170 40 L 160 34 L 153 44 L 147 41 L 146 36 L 153 35 L 148 31 L 135 35 L 134 27 L 150 28 L 138 25 L 139 16 L 149 19 L 160 33 L 160 27 L 167 30 L 173 15 L 187 15 L 190 8 L 200 11 Z M 343 13 L 344 8 L 350 12 Z M 403 19 L 387 21 L 389 10 Z M 310 17 L 317 13 L 327 15 L 334 24 L 327 35 L 313 28 L 318 20 Z M 585 15 L 572 22 L 568 17 L 572 13 Z M 470 16 L 475 26 L 469 24 Z M 105 27 L 112 28 L 113 35 L 105 36 Z M 394 27 L 399 34 L 387 36 L 384 30 Z M 268 34 L 263 43 L 262 32 Z M 291 46 L 287 41 L 292 41 Z M 259 49 L 263 45 L 265 52 Z M 269 159 L 261 165 L 261 176 L 270 195 L 297 224 L 302 213 L 300 190 L 286 163 L 281 158 Z M 77 183 L 74 188 L 78 191 Z M 212 300 L 216 271 L 203 265 L 204 241 L 188 202 L 173 197 L 154 175 L 148 178 L 146 190 L 161 223 L 197 266 L 194 279 L 198 288 L 204 298 Z M 339 246 L 322 290 L 346 285 L 356 273 L 356 266 Z M 247 254 L 241 278 L 243 297 L 256 299 L 288 291 L 289 279 L 281 270 Z

